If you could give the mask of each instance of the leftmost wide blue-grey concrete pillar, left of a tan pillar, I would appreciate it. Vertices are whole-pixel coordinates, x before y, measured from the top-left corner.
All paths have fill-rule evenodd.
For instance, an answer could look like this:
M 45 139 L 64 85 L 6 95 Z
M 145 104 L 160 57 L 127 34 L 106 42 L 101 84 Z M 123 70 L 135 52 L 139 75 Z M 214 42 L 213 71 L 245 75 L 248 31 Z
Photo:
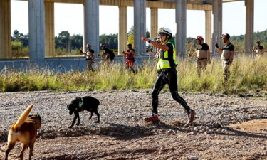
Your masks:
M 45 58 L 44 0 L 28 0 L 29 58 Z

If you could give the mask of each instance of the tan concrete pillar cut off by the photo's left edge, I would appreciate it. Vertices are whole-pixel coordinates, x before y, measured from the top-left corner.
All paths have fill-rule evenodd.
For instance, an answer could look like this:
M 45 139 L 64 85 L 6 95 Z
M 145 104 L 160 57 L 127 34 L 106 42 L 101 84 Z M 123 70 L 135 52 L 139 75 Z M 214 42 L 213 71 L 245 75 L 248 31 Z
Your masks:
M 0 1 L 0 59 L 11 58 L 11 0 Z

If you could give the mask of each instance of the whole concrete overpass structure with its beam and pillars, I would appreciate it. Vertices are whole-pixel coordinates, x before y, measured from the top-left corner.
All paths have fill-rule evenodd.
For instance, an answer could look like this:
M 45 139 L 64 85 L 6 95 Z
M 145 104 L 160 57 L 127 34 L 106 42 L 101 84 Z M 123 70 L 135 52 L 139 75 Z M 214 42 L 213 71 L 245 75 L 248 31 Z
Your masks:
M 119 7 L 119 53 L 127 46 L 127 6 L 134 7 L 135 50 L 144 54 L 145 43 L 140 36 L 146 31 L 146 7 L 151 9 L 151 36 L 157 36 L 158 9 L 175 9 L 177 54 L 184 58 L 187 38 L 187 9 L 205 11 L 205 37 L 209 46 L 214 46 L 216 36 L 222 33 L 222 3 L 238 0 L 28 0 L 29 60 L 46 61 L 55 51 L 54 3 L 83 4 L 83 46 L 90 41 L 99 51 L 99 5 Z M 241 0 L 239 0 L 241 1 Z M 243 0 L 246 6 L 245 48 L 253 48 L 254 0 Z M 211 19 L 211 14 L 213 19 Z M 211 22 L 213 21 L 213 26 Z M 211 29 L 212 28 L 212 29 Z M 211 30 L 213 33 L 211 33 Z M 85 47 L 84 47 L 85 48 Z M 11 0 L 0 1 L 0 59 L 11 58 Z M 49 59 L 51 60 L 51 58 Z M 58 58 L 55 58 L 58 60 Z M 53 60 L 51 60 L 53 61 Z M 2 60 L 3 62 L 3 60 Z M 0 62 L 1 63 L 1 62 Z M 1 67 L 2 65 L 0 65 Z

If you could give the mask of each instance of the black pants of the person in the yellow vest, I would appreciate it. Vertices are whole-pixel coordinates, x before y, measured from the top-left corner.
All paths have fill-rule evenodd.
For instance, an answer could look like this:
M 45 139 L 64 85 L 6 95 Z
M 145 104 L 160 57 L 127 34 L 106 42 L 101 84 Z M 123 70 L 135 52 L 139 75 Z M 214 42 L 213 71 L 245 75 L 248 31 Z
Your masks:
M 187 105 L 187 102 L 185 102 L 185 100 L 178 95 L 177 71 L 175 68 L 169 68 L 159 71 L 157 75 L 157 80 L 152 91 L 152 114 L 157 114 L 157 106 L 159 105 L 159 92 L 166 84 L 169 85 L 169 91 L 172 94 L 172 98 L 179 102 L 179 104 L 184 107 L 184 110 L 189 112 L 190 107 Z

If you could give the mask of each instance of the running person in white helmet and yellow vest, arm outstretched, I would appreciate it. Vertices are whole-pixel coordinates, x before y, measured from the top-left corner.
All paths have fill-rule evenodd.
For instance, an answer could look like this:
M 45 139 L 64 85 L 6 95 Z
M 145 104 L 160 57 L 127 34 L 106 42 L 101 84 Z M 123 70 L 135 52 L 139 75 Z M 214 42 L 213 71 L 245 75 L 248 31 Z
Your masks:
M 158 30 L 158 36 L 160 43 L 150 40 L 149 38 L 141 37 L 142 41 L 147 41 L 152 46 L 159 48 L 159 57 L 157 61 L 157 80 L 152 90 L 152 115 L 145 118 L 145 122 L 157 122 L 158 112 L 157 107 L 159 105 L 159 92 L 162 88 L 168 84 L 169 90 L 172 94 L 172 98 L 176 100 L 180 105 L 184 107 L 189 118 L 189 123 L 194 120 L 194 110 L 192 110 L 187 102 L 178 94 L 177 85 L 177 70 L 178 64 L 176 59 L 174 44 L 169 41 L 172 38 L 172 31 L 169 28 L 160 28 Z M 167 106 L 165 106 L 167 107 Z

